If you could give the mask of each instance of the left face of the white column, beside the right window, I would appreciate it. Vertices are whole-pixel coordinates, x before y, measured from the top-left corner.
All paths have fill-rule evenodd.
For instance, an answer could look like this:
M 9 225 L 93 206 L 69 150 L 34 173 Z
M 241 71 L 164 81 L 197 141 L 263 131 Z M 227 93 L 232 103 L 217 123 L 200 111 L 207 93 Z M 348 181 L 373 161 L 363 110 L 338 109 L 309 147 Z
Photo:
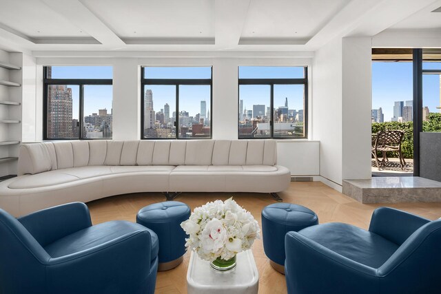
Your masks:
M 320 176 L 342 185 L 342 40 L 316 51 L 312 73 L 312 138 L 320 141 Z

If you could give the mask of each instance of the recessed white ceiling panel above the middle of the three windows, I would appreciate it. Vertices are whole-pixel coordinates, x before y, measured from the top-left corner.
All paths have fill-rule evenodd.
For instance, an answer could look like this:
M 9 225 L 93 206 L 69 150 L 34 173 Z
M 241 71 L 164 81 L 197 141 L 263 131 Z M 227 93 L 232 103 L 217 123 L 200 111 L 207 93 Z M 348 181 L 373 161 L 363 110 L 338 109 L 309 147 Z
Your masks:
M 213 38 L 214 0 L 81 0 L 120 38 Z

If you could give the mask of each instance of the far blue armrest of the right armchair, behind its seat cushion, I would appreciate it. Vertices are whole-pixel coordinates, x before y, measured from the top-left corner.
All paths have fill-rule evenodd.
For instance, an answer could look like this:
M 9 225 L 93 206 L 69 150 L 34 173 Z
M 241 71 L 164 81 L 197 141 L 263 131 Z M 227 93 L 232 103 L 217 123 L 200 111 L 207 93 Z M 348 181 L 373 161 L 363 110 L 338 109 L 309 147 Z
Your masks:
M 401 245 L 414 231 L 427 222 L 430 220 L 405 211 L 380 207 L 373 211 L 369 231 Z

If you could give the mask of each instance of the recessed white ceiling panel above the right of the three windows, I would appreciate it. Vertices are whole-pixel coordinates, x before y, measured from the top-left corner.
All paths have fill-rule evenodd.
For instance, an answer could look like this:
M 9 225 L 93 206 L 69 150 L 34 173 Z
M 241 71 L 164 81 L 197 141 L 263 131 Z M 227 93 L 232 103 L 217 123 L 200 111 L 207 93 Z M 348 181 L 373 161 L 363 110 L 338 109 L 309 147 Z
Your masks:
M 241 38 L 309 39 L 349 0 L 251 0 Z

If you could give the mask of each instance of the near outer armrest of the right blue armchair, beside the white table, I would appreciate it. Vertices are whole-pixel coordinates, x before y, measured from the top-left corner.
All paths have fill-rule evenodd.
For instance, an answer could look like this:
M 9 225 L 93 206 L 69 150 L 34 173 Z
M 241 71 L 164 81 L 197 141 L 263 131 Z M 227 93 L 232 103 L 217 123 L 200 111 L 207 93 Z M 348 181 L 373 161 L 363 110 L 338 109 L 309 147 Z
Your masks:
M 285 235 L 288 293 L 378 293 L 377 269 L 327 249 L 297 232 Z

